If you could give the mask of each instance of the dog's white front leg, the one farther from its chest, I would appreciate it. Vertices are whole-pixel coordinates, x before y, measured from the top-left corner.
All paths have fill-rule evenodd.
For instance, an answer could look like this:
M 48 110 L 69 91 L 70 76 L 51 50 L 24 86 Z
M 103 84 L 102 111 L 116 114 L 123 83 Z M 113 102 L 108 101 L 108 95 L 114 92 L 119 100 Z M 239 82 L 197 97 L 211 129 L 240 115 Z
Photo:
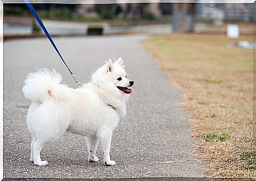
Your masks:
M 89 149 L 89 162 L 98 162 L 99 158 L 96 156 L 99 139 L 96 137 L 86 137 L 87 146 Z

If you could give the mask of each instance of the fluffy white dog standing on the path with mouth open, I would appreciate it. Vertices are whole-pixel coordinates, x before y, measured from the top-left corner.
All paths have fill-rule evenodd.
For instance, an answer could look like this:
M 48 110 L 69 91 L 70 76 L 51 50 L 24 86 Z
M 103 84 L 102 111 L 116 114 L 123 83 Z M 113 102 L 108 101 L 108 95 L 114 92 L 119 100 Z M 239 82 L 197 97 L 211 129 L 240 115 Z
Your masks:
M 112 131 L 126 115 L 128 87 L 134 84 L 126 77 L 122 59 L 108 60 L 81 88 L 69 88 L 60 84 L 61 80 L 54 69 L 38 69 L 25 80 L 23 93 L 32 100 L 26 117 L 32 134 L 30 160 L 46 165 L 48 162 L 40 158 L 43 146 L 69 131 L 86 136 L 90 162 L 99 160 L 96 150 L 100 142 L 103 161 L 107 166 L 115 165 L 109 157 Z

